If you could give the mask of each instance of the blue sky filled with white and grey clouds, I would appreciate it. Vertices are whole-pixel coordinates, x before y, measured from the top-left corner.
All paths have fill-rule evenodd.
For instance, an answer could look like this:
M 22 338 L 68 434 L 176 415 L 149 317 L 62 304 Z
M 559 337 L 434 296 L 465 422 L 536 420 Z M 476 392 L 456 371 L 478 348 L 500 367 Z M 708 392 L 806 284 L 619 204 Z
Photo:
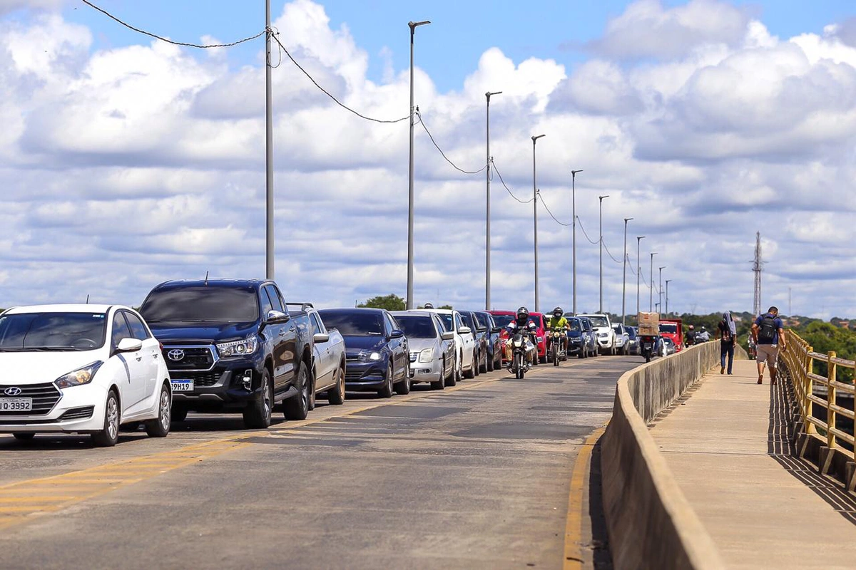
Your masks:
M 264 3 L 99 0 L 188 43 L 264 28 Z M 466 4 L 466 6 L 464 6 Z M 538 140 L 541 309 L 571 306 L 570 171 L 578 309 L 627 313 L 659 267 L 669 309 L 764 306 L 856 316 L 856 8 L 788 2 L 395 0 L 272 2 L 278 38 L 350 108 L 415 102 L 455 165 L 490 154 L 532 198 Z M 585 6 L 584 6 L 585 4 Z M 274 54 L 275 62 L 279 56 Z M 353 305 L 407 285 L 407 120 L 349 113 L 283 55 L 272 71 L 276 280 L 286 297 Z M 195 50 L 122 28 L 78 0 L 0 0 L 0 307 L 139 304 L 165 279 L 264 277 L 264 39 Z M 461 173 L 415 131 L 415 298 L 484 306 L 484 172 Z M 534 305 L 532 203 L 491 189 L 492 304 Z M 587 232 L 587 237 L 586 233 Z M 595 242 L 594 244 L 591 241 Z M 615 261 L 612 258 L 615 258 Z M 658 286 L 658 283 L 655 283 Z M 788 311 L 788 291 L 791 307 Z M 643 309 L 649 290 L 641 286 Z M 657 301 L 655 290 L 654 301 Z

